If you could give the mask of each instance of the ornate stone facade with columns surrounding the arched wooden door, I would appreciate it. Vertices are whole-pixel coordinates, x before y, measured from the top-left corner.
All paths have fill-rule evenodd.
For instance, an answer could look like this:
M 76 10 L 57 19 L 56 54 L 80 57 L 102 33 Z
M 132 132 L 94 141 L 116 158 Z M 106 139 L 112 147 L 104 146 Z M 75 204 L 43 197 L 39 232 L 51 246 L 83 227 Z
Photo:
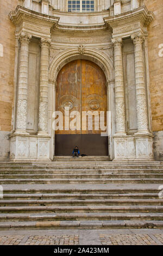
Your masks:
M 20 0 L 3 5 L 2 17 L 12 36 L 10 45 L 0 41 L 0 62 L 5 62 L 4 70 L 11 68 L 7 80 L 12 83 L 3 80 L 5 89 L 1 84 L 2 137 L 4 131 L 11 132 L 10 149 L 7 138 L 1 159 L 9 151 L 10 160 L 53 159 L 55 81 L 62 66 L 80 58 L 98 64 L 108 82 L 110 159 L 153 160 L 154 137 L 154 156 L 159 160 L 161 36 L 159 45 L 155 41 L 158 56 L 152 47 L 159 36 L 153 33 L 162 26 L 160 1 L 95 1 L 92 13 L 68 13 L 66 2 Z M 12 53 L 10 64 L 7 51 Z

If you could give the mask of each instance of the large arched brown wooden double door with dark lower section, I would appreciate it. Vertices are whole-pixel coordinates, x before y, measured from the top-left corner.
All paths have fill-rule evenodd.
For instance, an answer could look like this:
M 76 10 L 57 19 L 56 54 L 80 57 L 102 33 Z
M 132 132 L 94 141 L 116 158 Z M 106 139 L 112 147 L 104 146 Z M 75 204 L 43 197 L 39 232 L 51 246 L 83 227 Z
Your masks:
M 65 129 L 65 108 L 80 113 L 81 130 Z M 102 130 L 88 125 L 86 112 L 94 114 L 104 112 L 106 125 L 107 97 L 104 72 L 89 60 L 74 60 L 66 64 L 59 72 L 56 88 L 55 111 L 62 112 L 63 130 L 55 131 L 55 155 L 71 155 L 75 145 L 80 153 L 86 155 L 108 155 L 108 137 L 101 136 Z M 96 113 L 95 113 L 96 112 Z M 100 120 L 100 118 L 99 118 Z M 71 121 L 71 118 L 70 118 Z

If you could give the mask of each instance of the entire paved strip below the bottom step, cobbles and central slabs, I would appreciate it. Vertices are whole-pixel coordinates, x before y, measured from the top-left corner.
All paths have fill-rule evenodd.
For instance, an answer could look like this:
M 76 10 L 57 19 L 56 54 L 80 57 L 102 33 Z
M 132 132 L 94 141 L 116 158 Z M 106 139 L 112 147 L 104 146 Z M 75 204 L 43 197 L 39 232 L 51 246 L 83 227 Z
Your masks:
M 0 245 L 163 245 L 163 230 L 4 230 Z

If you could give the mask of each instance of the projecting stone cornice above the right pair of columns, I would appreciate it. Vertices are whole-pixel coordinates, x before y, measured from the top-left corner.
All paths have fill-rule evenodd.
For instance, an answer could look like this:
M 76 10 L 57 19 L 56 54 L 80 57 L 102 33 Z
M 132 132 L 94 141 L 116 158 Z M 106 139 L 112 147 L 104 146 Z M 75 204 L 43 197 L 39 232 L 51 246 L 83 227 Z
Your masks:
M 125 26 L 134 21 L 141 21 L 143 26 L 147 27 L 149 23 L 154 19 L 154 14 L 152 11 L 148 11 L 146 6 L 143 5 L 133 11 L 128 11 L 127 13 L 118 14 L 111 17 L 104 17 L 104 22 L 111 28 L 118 26 Z

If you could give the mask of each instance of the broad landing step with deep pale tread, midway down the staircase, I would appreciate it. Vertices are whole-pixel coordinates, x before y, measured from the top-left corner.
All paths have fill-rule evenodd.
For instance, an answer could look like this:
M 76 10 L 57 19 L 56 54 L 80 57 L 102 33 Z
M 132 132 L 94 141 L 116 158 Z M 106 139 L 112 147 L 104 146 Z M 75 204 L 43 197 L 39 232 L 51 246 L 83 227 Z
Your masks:
M 79 187 L 79 185 L 82 185 L 81 187 Z M 86 188 L 83 187 L 83 185 L 86 185 Z M 93 184 L 78 184 L 77 187 L 73 187 L 73 184 L 53 184 L 51 186 L 53 187 L 49 187 L 49 188 L 45 188 L 43 186 L 47 186 L 45 185 L 41 185 L 38 184 L 38 187 L 35 187 L 36 185 L 32 184 L 32 185 L 26 185 L 26 186 L 30 186 L 30 187 L 24 187 L 25 185 L 4 185 L 7 187 L 4 187 L 3 189 L 3 193 L 4 194 L 33 194 L 33 193 L 37 193 L 37 194 L 44 194 L 44 193 L 48 193 L 48 194 L 60 194 L 60 193 L 66 193 L 68 194 L 74 194 L 74 196 L 76 196 L 77 194 L 82 194 L 82 195 L 87 195 L 87 194 L 98 194 L 98 195 L 102 195 L 103 194 L 115 194 L 117 196 L 117 194 L 135 194 L 135 193 L 139 193 L 144 194 L 144 193 L 155 193 L 158 194 L 159 190 L 158 187 L 157 188 L 152 188 L 150 186 L 152 186 L 153 184 L 146 184 L 149 185 L 148 187 L 142 188 L 141 184 L 137 184 L 137 185 L 141 185 L 141 187 L 132 187 L 132 188 L 125 188 L 125 187 L 118 187 L 117 184 L 111 184 L 113 185 L 113 187 L 105 187 L 105 185 L 103 186 L 99 186 L 99 184 L 96 184 L 97 187 L 93 187 Z M 116 186 L 115 186 L 116 185 Z M 125 184 L 126 186 L 129 184 Z M 9 187 L 11 186 L 11 187 Z M 16 186 L 16 187 L 15 187 Z M 20 188 L 20 186 L 23 186 L 23 188 Z M 34 187 L 31 187 L 34 186 Z M 50 185 L 48 185 L 50 186 Z M 65 188 L 64 188 L 65 186 Z

